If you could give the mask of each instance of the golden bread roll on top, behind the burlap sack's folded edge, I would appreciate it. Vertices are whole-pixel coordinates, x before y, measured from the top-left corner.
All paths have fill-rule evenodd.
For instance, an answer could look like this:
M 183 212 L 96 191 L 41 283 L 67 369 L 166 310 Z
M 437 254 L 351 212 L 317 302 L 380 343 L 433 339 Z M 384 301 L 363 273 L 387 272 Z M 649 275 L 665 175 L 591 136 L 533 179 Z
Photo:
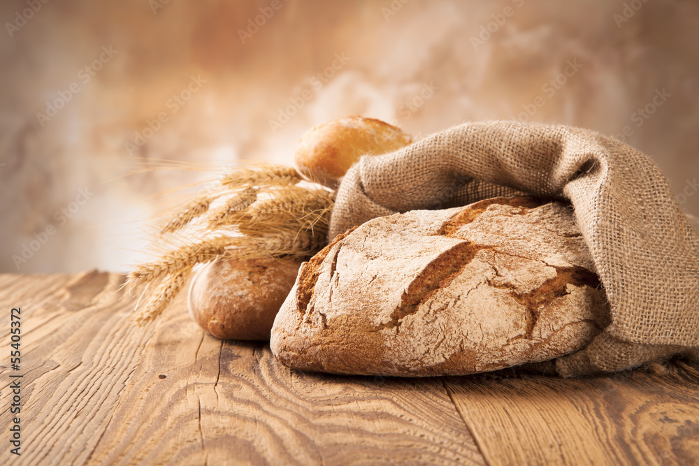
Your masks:
M 386 154 L 410 143 L 410 134 L 380 119 L 347 117 L 303 133 L 294 163 L 298 173 L 308 180 L 335 189 L 339 178 L 361 156 Z

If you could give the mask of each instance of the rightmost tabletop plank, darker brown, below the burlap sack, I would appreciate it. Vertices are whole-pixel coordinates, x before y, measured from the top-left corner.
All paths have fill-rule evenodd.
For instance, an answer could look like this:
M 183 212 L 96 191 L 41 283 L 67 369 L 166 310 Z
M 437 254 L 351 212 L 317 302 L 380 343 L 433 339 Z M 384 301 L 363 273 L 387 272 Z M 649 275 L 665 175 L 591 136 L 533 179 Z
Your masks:
M 559 379 L 449 377 L 491 465 L 699 464 L 699 365 Z

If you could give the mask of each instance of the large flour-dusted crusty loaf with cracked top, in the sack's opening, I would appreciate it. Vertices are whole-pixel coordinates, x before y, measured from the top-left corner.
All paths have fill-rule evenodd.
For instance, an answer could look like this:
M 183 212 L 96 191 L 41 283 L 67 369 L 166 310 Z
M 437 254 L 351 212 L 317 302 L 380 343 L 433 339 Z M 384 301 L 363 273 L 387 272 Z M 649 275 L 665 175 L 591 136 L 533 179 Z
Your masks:
M 571 207 L 493 198 L 339 235 L 301 265 L 271 348 L 298 370 L 471 374 L 572 353 L 609 319 Z

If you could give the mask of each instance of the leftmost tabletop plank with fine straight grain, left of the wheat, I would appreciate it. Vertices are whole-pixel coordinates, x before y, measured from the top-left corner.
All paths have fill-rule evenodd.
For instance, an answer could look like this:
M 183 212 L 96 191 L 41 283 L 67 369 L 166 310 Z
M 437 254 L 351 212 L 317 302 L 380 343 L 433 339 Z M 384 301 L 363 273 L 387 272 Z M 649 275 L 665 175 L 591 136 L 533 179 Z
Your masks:
M 50 295 L 41 291 L 42 281 L 60 280 L 62 286 Z M 95 432 L 108 421 L 129 377 L 122 368 L 137 364 L 138 347 L 144 343 L 127 337 L 130 330 L 121 325 L 131 315 L 130 303 L 118 301 L 115 293 L 121 282 L 119 275 L 87 272 L 59 280 L 29 277 L 26 286 L 15 285 L 16 297 L 8 300 L 22 306 L 18 372 L 24 374 L 22 456 L 17 464 L 80 464 L 97 444 Z M 25 291 L 35 288 L 37 296 Z M 0 425 L 9 422 L 3 410 Z M 9 452 L 3 449 L 0 455 L 5 464 Z

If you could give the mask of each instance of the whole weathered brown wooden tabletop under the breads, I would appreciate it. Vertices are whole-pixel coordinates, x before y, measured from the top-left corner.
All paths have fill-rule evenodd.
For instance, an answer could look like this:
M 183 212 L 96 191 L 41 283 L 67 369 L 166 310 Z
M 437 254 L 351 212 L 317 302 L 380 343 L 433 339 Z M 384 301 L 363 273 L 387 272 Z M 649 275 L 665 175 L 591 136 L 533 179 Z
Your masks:
M 122 275 L 0 275 L 0 464 L 697 464 L 699 365 L 559 379 L 295 372 L 222 342 L 185 296 L 138 328 Z M 184 294 L 184 293 L 183 293 Z M 21 365 L 10 310 L 21 307 Z M 10 384 L 21 381 L 21 456 Z M 16 416 L 16 415 L 15 415 Z

